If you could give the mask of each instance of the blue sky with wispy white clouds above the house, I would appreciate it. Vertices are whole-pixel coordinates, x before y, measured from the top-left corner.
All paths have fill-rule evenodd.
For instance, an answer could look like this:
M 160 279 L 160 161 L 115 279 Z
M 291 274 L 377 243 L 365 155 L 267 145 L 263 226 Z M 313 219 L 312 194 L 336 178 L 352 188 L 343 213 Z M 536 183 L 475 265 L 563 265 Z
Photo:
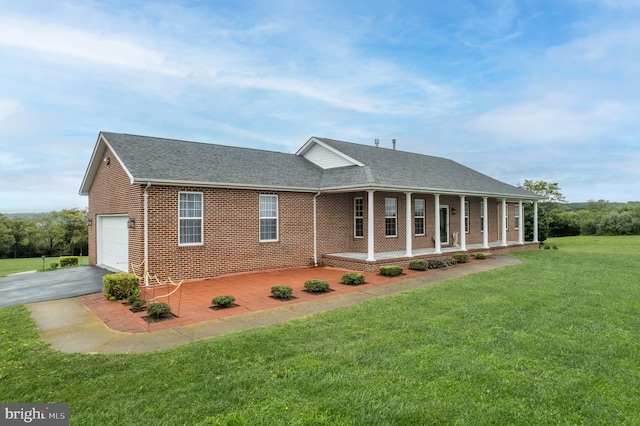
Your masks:
M 636 0 L 0 3 L 0 212 L 84 208 L 100 130 L 458 161 L 640 200 Z

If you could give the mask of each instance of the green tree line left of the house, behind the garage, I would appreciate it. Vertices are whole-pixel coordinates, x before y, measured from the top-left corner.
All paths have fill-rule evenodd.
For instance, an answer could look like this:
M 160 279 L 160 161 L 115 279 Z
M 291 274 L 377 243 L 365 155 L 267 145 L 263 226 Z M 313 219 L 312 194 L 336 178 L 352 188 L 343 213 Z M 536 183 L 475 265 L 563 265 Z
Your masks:
M 83 256 L 88 251 L 87 211 L 31 216 L 0 214 L 0 258 Z

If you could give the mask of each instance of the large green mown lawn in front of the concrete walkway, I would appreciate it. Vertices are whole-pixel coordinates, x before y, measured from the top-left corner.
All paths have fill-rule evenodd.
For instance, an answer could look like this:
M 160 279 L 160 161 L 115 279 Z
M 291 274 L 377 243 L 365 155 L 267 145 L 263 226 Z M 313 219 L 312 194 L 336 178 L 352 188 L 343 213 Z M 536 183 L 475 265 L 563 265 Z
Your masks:
M 63 354 L 0 309 L 2 402 L 77 425 L 640 424 L 640 237 L 150 354 Z

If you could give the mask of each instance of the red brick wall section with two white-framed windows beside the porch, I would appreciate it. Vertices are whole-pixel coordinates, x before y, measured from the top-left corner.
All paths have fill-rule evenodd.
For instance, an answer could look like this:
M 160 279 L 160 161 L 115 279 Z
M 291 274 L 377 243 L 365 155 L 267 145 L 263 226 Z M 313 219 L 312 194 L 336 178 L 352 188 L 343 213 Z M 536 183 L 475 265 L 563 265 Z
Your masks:
M 202 192 L 204 242 L 178 244 L 178 193 Z M 278 196 L 279 239 L 260 242 L 260 194 Z M 152 186 L 149 270 L 158 277 L 201 278 L 311 264 L 313 194 Z

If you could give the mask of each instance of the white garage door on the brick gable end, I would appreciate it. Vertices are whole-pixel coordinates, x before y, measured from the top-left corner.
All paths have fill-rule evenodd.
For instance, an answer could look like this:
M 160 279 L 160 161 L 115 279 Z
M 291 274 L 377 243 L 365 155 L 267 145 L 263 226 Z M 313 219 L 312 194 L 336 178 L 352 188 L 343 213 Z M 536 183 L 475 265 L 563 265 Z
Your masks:
M 127 216 L 98 216 L 98 265 L 129 271 Z

